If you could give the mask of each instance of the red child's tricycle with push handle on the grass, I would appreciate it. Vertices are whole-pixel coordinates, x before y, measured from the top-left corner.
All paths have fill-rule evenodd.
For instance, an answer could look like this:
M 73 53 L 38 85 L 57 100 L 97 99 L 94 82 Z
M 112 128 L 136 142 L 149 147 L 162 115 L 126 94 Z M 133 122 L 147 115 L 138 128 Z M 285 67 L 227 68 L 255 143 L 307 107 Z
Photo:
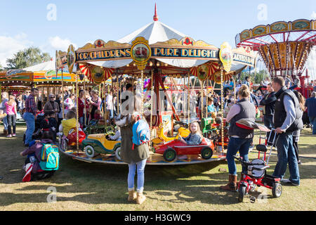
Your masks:
M 272 189 L 272 195 L 275 198 L 279 198 L 282 195 L 282 185 L 279 183 L 281 179 L 266 173 L 266 169 L 270 167 L 268 165 L 268 162 L 272 152 L 272 147 L 277 142 L 277 139 L 279 137 L 277 136 L 276 132 L 272 132 L 272 130 L 270 132 L 268 140 L 270 140 L 270 138 L 272 137 L 272 133 L 274 133 L 274 137 L 272 143 L 268 143 L 268 146 L 271 147 L 267 161 L 265 161 L 266 152 L 268 150 L 267 144 L 258 144 L 256 146 L 256 150 L 258 150 L 258 158 L 252 160 L 251 162 L 247 162 L 241 157 L 237 158 L 236 156 L 234 156 L 235 159 L 239 160 L 239 162 L 242 163 L 243 171 L 247 171 L 247 174 L 242 173 L 242 179 L 238 184 L 239 203 L 242 203 L 242 201 L 244 200 L 244 195 L 247 195 L 249 192 L 253 192 L 256 186 L 263 186 L 265 188 Z M 260 158 L 260 153 L 264 153 L 263 159 Z

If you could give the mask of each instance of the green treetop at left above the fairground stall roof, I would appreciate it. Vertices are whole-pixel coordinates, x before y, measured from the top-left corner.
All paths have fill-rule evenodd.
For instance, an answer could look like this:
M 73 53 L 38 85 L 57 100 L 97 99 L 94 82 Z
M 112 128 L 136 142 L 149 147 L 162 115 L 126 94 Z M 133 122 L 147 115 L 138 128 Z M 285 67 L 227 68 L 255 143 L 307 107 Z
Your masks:
M 22 69 L 51 59 L 48 53 L 42 53 L 37 47 L 18 51 L 13 58 L 6 60 L 7 69 Z

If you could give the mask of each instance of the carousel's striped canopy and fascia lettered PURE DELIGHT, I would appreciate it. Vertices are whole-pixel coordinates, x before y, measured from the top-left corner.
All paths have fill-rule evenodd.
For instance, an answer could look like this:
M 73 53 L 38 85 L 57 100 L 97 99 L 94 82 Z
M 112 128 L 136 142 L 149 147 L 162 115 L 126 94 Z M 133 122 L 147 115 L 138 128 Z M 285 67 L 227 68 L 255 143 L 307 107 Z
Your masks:
M 88 79 L 100 84 L 113 74 L 140 77 L 149 76 L 152 70 L 160 75 L 181 77 L 194 75 L 201 80 L 211 79 L 220 83 L 223 79 L 241 72 L 246 66 L 254 66 L 254 52 L 249 48 L 231 49 L 224 42 L 220 49 L 204 41 L 174 30 L 158 21 L 155 8 L 154 21 L 117 41 L 96 40 L 74 51 L 70 45 L 67 53 L 56 51 L 56 69 L 65 65 L 79 65 Z

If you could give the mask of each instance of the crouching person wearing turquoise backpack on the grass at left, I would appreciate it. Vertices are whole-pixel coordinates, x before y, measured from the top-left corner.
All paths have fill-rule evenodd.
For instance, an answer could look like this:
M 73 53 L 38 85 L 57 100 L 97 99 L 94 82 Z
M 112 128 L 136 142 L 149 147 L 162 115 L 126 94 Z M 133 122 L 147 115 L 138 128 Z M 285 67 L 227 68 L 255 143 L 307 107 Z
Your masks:
M 46 179 L 53 176 L 59 167 L 58 147 L 53 143 L 53 133 L 44 131 L 41 141 L 36 141 L 32 146 L 20 153 L 27 155 L 25 160 L 25 176 L 22 181 Z

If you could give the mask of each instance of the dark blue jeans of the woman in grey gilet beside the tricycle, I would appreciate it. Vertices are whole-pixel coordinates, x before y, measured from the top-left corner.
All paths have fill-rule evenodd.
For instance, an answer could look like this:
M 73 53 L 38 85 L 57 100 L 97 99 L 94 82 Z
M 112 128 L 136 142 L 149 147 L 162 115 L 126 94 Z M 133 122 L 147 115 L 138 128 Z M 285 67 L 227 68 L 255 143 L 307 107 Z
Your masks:
M 248 161 L 249 147 L 252 143 L 252 139 L 241 139 L 230 137 L 228 142 L 228 149 L 226 154 L 226 160 L 228 163 L 228 172 L 229 174 L 236 175 L 237 168 L 235 164 L 234 155 L 239 151 L 239 155 L 246 161 Z M 243 171 L 246 174 L 246 171 Z

